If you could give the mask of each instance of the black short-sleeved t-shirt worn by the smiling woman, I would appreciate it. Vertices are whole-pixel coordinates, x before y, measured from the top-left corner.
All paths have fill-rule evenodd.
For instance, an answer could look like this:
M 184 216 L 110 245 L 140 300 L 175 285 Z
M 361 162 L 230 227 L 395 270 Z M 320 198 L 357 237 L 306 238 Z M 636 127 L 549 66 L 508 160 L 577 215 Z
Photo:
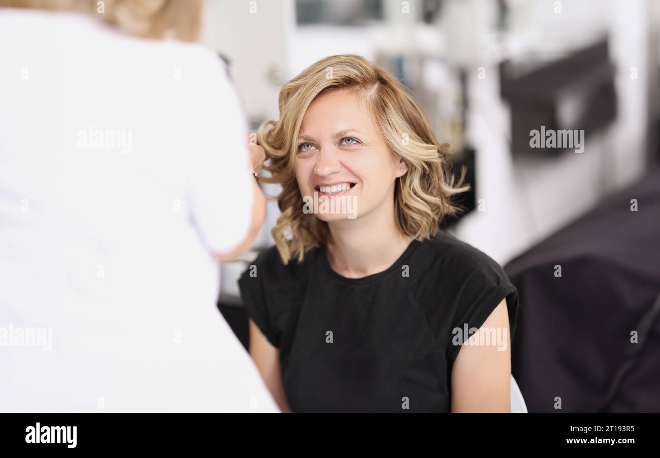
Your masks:
M 513 337 L 518 309 L 499 264 L 444 231 L 357 279 L 332 270 L 323 246 L 286 266 L 273 246 L 239 286 L 248 316 L 279 349 L 294 412 L 448 412 L 461 349 L 452 341 L 468 337 L 453 330 L 480 328 L 506 298 Z

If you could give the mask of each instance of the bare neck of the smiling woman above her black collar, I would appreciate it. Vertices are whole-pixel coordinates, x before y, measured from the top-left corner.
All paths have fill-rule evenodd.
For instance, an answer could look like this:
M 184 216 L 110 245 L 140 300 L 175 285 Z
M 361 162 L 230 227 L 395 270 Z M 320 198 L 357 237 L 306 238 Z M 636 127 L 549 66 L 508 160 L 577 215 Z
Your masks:
M 394 209 L 385 214 L 371 212 L 362 218 L 329 223 L 331 240 L 328 261 L 335 272 L 361 278 L 387 270 L 413 241 L 403 235 Z

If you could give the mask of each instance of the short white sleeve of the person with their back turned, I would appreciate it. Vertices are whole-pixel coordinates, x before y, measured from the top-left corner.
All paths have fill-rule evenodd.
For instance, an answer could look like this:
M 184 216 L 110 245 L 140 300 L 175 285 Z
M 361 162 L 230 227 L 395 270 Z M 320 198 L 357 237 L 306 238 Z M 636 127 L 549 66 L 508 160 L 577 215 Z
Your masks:
M 209 57 L 210 56 L 210 57 Z M 253 177 L 248 169 L 248 127 L 224 63 L 209 53 L 191 88 L 188 198 L 193 223 L 210 252 L 228 252 L 249 230 Z

